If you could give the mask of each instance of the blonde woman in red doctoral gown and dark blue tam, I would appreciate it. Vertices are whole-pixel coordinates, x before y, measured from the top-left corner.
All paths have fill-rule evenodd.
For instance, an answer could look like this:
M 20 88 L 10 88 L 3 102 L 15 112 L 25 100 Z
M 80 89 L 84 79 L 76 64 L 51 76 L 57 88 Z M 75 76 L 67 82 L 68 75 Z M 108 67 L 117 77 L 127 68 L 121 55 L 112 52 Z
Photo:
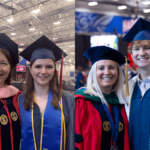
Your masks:
M 125 57 L 97 46 L 84 56 L 92 62 L 87 85 L 75 92 L 75 147 L 78 150 L 130 150 L 124 108 Z

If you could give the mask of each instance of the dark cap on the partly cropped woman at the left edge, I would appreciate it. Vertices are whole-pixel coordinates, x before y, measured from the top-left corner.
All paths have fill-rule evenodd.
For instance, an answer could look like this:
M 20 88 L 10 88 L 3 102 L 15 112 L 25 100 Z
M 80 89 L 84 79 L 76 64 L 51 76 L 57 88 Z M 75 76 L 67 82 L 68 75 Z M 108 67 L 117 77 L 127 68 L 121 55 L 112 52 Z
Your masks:
M 18 45 L 14 41 L 12 41 L 5 33 L 0 33 L 0 48 L 5 49 L 9 52 L 13 66 L 18 64 Z

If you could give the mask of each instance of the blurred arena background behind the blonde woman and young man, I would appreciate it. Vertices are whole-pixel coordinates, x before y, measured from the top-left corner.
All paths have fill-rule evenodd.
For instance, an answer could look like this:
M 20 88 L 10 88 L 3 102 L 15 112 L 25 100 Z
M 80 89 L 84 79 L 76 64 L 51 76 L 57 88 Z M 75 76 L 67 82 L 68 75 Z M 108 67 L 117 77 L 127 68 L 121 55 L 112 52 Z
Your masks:
M 122 41 L 139 17 L 150 20 L 147 0 L 76 0 L 75 2 L 75 80 L 76 87 L 86 85 L 91 62 L 83 54 L 87 48 L 106 45 L 130 60 L 128 79 L 138 73 L 131 56 L 131 45 Z M 125 67 L 121 66 L 124 72 Z

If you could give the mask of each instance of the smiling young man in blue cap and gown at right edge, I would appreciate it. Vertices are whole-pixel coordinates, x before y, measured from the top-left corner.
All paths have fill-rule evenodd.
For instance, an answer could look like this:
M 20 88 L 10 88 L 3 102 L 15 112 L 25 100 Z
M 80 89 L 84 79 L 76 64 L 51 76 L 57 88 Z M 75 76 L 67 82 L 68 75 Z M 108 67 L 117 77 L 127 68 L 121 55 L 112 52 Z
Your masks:
M 126 112 L 131 150 L 150 149 L 150 22 L 139 18 L 123 38 L 131 43 L 139 74 L 129 81 Z

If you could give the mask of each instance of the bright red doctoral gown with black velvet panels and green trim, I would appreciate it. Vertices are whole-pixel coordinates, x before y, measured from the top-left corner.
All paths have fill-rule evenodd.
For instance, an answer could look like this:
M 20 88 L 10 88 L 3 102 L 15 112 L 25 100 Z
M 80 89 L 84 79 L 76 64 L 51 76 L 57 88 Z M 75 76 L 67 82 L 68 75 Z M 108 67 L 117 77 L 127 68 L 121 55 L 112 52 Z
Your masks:
M 75 148 L 76 150 L 110 150 L 113 145 L 111 127 L 99 97 L 84 93 L 82 88 L 75 95 Z M 129 126 L 124 105 L 114 93 L 104 94 L 109 111 L 115 120 L 113 106 L 119 113 L 119 134 L 116 145 L 119 150 L 130 150 Z

